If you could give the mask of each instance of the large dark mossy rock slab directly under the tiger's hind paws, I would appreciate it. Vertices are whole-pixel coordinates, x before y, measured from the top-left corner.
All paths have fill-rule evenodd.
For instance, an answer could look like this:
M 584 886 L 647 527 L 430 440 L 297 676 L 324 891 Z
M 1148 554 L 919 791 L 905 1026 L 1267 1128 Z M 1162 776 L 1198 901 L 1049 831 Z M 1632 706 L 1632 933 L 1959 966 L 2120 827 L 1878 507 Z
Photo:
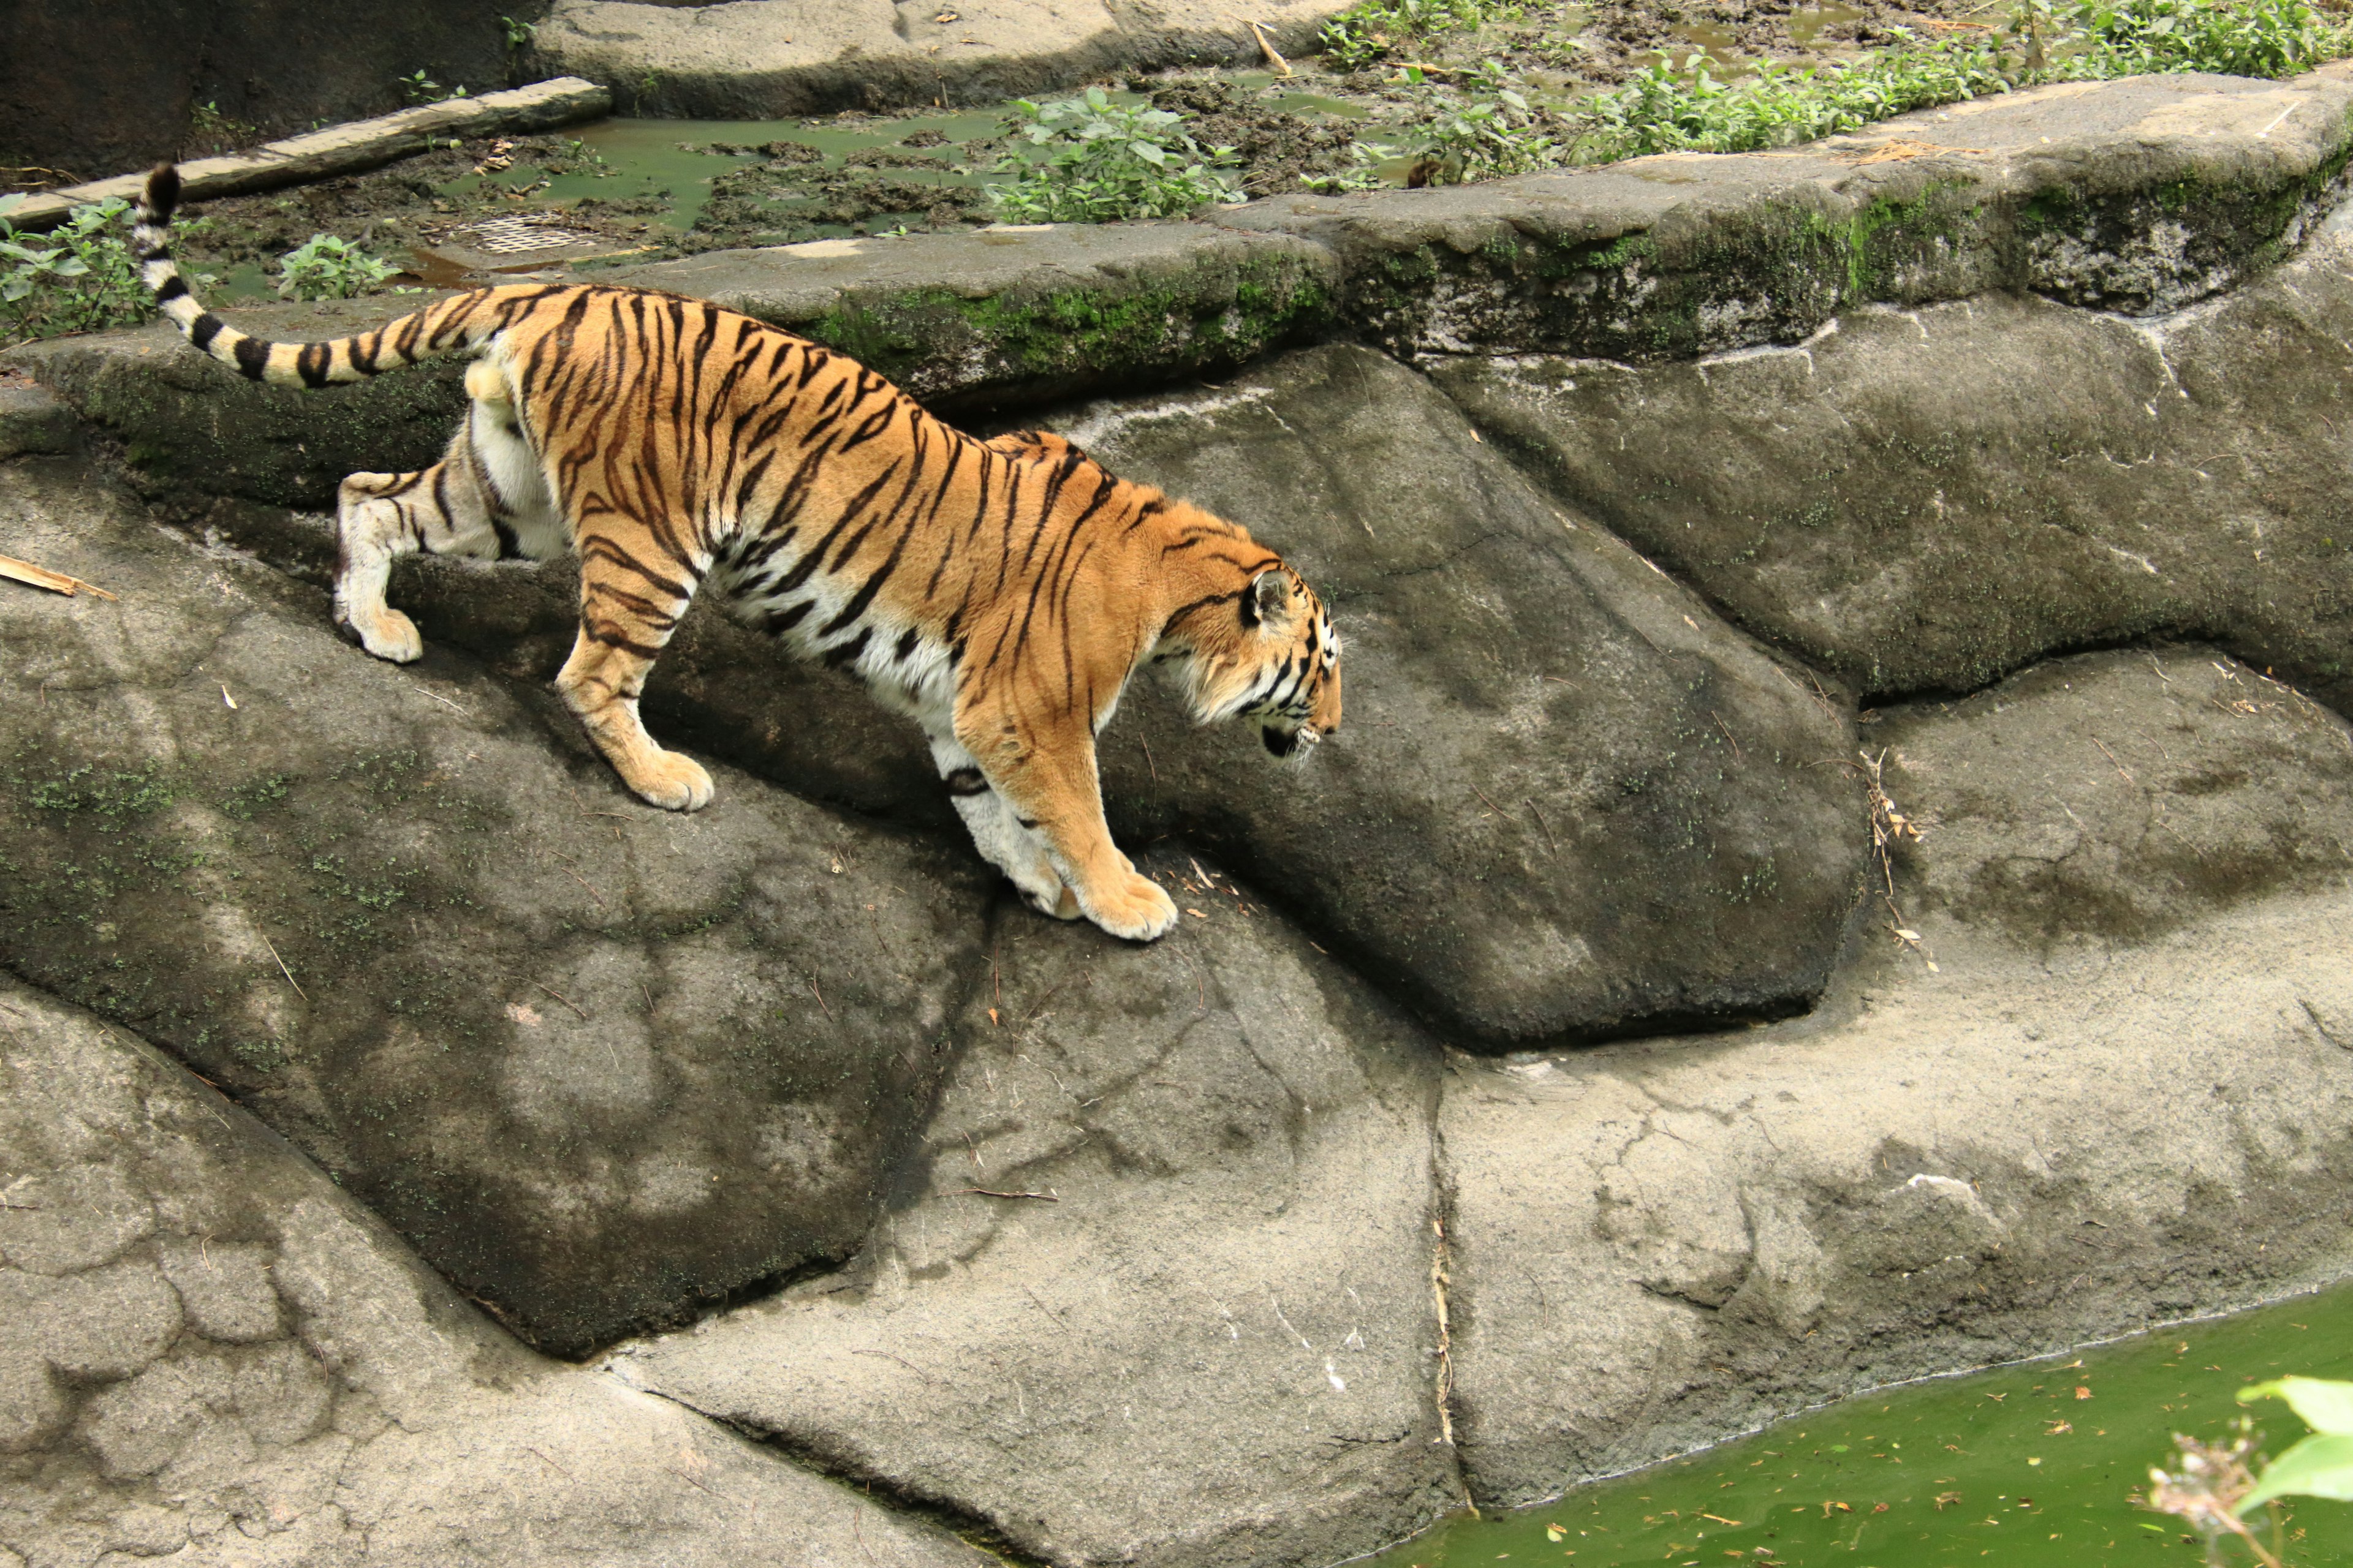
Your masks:
M 169 1046 L 536 1345 L 856 1248 L 988 889 L 741 773 L 635 804 L 544 691 L 384 665 L 59 458 L 12 548 L 9 966 Z

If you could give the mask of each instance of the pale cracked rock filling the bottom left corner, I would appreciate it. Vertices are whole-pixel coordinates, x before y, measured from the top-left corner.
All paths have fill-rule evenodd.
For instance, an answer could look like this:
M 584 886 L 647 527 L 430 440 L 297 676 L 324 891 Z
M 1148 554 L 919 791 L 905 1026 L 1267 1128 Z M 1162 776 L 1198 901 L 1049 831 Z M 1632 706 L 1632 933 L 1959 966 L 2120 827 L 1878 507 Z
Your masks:
M 0 1561 L 993 1561 L 518 1349 L 351 1194 L 89 1013 L 0 980 Z

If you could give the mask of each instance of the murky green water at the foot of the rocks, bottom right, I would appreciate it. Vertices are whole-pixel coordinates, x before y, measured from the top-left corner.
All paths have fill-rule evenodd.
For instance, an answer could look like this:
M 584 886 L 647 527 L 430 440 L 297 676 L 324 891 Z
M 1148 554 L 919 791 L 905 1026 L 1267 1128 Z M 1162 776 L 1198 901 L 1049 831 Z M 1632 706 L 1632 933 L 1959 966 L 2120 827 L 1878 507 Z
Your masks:
M 1857 1396 L 1560 1502 L 1452 1519 L 1374 1568 L 2191 1568 L 2181 1521 L 2134 1505 L 2172 1434 L 2242 1410 L 2275 1455 L 2304 1436 L 2247 1382 L 2353 1378 L 2353 1286 L 2080 1354 Z M 2353 1563 L 2353 1505 L 2282 1505 L 2292 1568 Z M 2268 1530 L 2264 1530 L 2268 1542 Z M 2231 1563 L 2254 1561 L 2226 1542 Z

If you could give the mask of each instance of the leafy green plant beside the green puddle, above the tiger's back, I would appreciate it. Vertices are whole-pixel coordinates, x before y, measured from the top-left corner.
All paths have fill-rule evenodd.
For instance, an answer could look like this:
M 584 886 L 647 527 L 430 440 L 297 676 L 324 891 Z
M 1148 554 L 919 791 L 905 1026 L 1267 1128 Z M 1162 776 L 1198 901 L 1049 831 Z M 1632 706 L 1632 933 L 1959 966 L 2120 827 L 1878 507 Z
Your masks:
M 1009 223 L 1115 223 L 1176 219 L 1242 193 L 1224 174 L 1233 148 L 1207 148 L 1165 108 L 1113 103 L 1101 87 L 1056 103 L 1014 99 L 1014 148 L 998 160 L 1009 181 L 988 186 Z

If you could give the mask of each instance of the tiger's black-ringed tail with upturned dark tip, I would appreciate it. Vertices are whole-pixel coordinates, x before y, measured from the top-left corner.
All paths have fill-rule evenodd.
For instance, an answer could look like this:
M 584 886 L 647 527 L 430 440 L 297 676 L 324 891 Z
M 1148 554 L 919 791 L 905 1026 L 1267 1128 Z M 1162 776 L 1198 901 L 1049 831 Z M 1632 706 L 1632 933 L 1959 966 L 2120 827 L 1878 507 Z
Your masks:
M 139 193 L 139 219 L 132 228 L 132 256 L 139 280 L 155 294 L 158 308 L 181 334 L 221 364 L 235 367 L 249 381 L 271 386 L 332 386 L 362 381 L 379 371 L 435 360 L 475 348 L 504 327 L 504 315 L 482 310 L 492 289 L 454 294 L 435 306 L 402 315 L 374 331 L 327 343 L 268 343 L 249 336 L 207 310 L 172 261 L 172 209 L 179 207 L 179 169 L 155 165 Z

